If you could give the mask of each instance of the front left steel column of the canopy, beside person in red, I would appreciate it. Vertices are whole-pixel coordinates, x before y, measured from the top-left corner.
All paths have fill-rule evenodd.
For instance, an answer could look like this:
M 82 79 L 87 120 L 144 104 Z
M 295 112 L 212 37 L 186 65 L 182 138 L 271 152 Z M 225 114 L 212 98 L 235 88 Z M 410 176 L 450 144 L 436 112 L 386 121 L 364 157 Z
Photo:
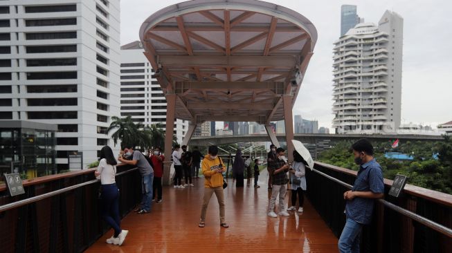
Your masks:
M 163 169 L 163 185 L 170 185 L 172 135 L 174 132 L 174 113 L 176 111 L 176 94 L 166 94 L 166 131 L 165 131 L 165 163 Z

